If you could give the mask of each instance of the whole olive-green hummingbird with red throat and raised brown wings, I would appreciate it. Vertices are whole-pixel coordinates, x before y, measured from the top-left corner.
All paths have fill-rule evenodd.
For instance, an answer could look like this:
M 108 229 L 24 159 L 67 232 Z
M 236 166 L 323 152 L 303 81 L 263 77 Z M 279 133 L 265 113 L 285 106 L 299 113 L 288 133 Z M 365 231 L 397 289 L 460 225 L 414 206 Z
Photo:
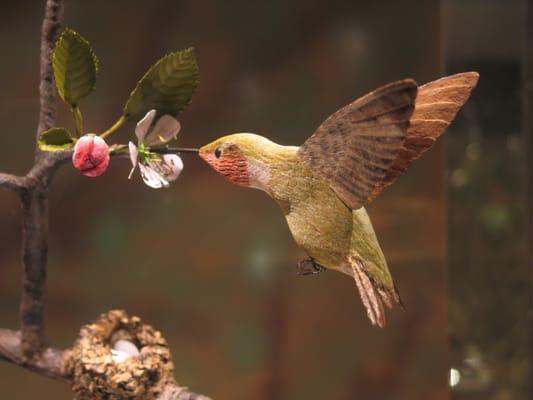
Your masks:
M 309 255 L 301 271 L 351 276 L 368 318 L 384 327 L 384 306 L 401 300 L 364 206 L 431 147 L 478 77 L 466 72 L 420 87 L 412 79 L 390 83 L 335 112 L 299 147 L 237 133 L 199 154 L 228 181 L 272 197 Z

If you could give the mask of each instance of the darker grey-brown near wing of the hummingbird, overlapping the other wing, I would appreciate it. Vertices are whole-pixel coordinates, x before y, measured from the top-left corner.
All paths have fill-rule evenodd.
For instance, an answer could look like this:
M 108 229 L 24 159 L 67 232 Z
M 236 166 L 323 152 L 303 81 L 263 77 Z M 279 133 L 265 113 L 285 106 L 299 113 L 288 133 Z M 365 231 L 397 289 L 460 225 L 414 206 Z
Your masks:
M 326 119 L 298 156 L 348 207 L 360 208 L 398 158 L 416 93 L 415 81 L 405 79 L 355 100 Z

